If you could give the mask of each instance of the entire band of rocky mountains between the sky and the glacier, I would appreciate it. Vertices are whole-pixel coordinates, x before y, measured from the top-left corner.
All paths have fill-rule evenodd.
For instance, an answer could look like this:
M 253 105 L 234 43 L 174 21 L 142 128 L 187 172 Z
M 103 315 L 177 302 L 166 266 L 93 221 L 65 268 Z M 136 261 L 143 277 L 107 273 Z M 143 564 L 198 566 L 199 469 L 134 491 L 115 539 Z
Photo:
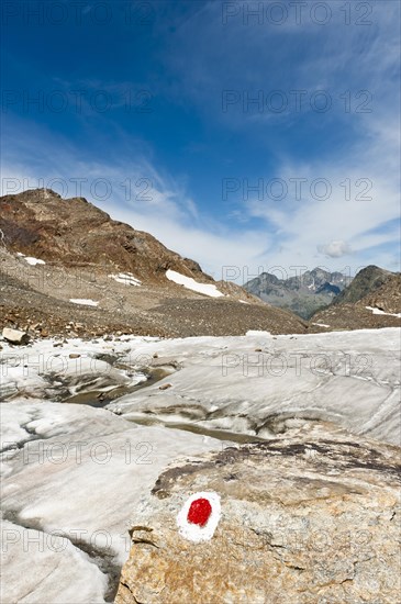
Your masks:
M 394 326 L 400 320 L 390 315 L 400 304 L 393 276 L 367 267 L 347 286 L 344 275 L 319 268 L 286 280 L 263 273 L 245 291 L 215 282 L 194 260 L 82 198 L 64 200 L 47 189 L 0 198 L 0 328 L 31 335 L 187 337 Z M 328 302 L 309 325 L 289 312 L 310 316 Z

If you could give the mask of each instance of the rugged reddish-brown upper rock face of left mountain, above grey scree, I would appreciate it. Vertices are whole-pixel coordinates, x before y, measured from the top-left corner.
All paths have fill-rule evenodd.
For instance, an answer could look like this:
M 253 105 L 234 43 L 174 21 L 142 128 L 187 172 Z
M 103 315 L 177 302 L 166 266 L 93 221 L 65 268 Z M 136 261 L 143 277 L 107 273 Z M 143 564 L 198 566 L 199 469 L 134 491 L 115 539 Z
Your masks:
M 167 269 L 205 282 L 199 265 L 155 237 L 113 221 L 83 198 L 63 199 L 48 189 L 0 198 L 0 228 L 10 250 L 64 265 L 92 262 L 159 280 Z

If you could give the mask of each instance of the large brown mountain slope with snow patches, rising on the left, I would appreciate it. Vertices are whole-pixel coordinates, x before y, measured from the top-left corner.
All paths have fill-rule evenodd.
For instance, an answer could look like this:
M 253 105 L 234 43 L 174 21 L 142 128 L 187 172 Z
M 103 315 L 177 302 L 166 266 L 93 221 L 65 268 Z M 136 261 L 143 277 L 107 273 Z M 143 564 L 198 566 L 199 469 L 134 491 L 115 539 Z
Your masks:
M 0 327 L 64 336 L 307 328 L 81 198 L 64 200 L 47 189 L 5 195 L 0 230 Z

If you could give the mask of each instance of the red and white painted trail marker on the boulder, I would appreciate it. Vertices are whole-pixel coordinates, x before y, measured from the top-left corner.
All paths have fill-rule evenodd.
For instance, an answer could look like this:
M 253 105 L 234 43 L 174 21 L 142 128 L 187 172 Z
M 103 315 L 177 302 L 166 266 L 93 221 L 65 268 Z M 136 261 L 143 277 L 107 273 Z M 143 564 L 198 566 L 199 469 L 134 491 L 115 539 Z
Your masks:
M 221 517 L 220 496 L 213 492 L 194 493 L 177 515 L 181 537 L 190 541 L 209 541 Z

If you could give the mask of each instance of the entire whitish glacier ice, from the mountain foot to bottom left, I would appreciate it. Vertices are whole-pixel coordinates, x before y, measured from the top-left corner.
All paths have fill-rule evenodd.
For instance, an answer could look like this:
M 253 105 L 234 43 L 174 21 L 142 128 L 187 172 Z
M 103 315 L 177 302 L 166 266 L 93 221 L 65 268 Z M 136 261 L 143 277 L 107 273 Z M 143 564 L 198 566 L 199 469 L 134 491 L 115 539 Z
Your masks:
M 254 331 L 75 338 L 56 348 L 55 339 L 41 339 L 18 349 L 3 342 L 2 602 L 110 601 L 129 555 L 129 519 L 169 462 L 227 446 L 210 430 L 271 438 L 318 420 L 400 444 L 400 335 L 399 328 Z M 154 359 L 178 369 L 108 409 L 52 402 L 64 390 L 137 383 Z M 170 388 L 160 390 L 166 382 Z M 66 545 L 60 552 L 48 541 L 55 534 Z M 45 543 L 43 551 L 35 539 Z

